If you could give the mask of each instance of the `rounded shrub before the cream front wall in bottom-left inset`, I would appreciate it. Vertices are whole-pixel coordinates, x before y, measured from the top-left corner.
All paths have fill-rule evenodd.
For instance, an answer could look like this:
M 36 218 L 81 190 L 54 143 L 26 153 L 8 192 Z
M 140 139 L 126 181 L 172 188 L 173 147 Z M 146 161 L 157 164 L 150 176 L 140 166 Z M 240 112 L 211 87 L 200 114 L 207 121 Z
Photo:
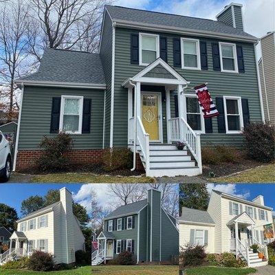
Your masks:
M 28 268 L 34 271 L 50 271 L 54 269 L 54 259 L 51 254 L 34 251 L 30 256 Z

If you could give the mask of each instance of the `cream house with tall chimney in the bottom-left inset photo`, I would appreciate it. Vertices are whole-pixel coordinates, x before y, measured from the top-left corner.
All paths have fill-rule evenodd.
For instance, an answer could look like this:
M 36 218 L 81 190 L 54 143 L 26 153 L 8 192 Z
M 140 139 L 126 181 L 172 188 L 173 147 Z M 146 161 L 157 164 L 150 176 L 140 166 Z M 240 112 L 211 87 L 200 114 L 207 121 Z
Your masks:
M 14 255 L 29 256 L 34 250 L 52 254 L 56 264 L 76 261 L 75 252 L 85 250 L 85 237 L 73 214 L 72 194 L 62 188 L 60 196 L 60 201 L 17 221 L 10 250 L 1 256 L 0 264 L 14 259 Z

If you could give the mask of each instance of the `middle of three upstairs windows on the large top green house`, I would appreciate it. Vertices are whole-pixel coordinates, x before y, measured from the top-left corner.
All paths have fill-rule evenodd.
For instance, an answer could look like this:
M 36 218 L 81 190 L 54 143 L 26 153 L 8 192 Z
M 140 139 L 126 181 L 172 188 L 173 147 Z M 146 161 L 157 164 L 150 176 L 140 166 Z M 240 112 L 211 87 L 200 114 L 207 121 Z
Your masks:
M 201 69 L 199 40 L 181 38 L 182 69 Z

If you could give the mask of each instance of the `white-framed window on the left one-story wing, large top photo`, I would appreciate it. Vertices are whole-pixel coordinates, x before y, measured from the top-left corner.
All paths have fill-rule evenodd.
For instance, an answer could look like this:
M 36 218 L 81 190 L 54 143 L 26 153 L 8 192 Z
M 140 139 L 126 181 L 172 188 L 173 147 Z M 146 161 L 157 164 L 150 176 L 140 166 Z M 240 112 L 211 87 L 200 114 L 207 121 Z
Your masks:
M 61 96 L 59 131 L 71 134 L 82 132 L 83 96 Z

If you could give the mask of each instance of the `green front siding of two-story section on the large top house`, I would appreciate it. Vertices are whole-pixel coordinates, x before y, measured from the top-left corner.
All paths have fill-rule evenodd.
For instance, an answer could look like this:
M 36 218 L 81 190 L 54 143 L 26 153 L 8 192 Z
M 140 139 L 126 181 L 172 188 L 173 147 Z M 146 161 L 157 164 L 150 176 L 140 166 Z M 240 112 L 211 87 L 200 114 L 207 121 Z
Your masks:
M 138 30 L 116 28 L 115 31 L 115 98 L 113 144 L 117 147 L 126 146 L 127 144 L 127 89 L 123 88 L 121 85 L 124 80 L 126 80 L 127 78 L 131 78 L 142 69 L 144 69 L 144 66 L 131 64 L 131 33 L 138 33 Z M 182 36 L 177 36 L 176 34 L 159 35 L 166 36 L 167 38 L 168 65 L 173 67 L 173 38 Z M 195 36 L 184 37 L 198 39 L 198 37 Z M 212 65 L 212 42 L 219 41 L 216 39 L 208 39 L 203 37 L 199 37 L 199 39 L 201 41 L 206 41 L 207 43 L 208 70 L 195 71 L 181 69 L 178 67 L 174 68 L 179 74 L 181 74 L 181 76 L 190 81 L 190 85 L 188 87 L 190 91 L 186 92 L 186 94 L 194 94 L 195 91 L 193 91 L 192 87 L 195 87 L 196 85 L 200 85 L 202 83 L 208 83 L 208 89 L 214 102 L 215 98 L 220 96 L 241 96 L 242 98 L 248 98 L 250 121 L 261 122 L 261 107 L 256 76 L 254 45 L 252 43 L 236 43 L 236 45 L 242 45 L 243 47 L 245 73 L 222 73 L 214 71 Z M 234 41 L 224 42 L 234 43 Z M 171 99 L 171 104 L 173 104 L 173 96 L 171 96 Z M 162 104 L 165 105 L 165 102 L 163 102 Z M 162 115 L 166 116 L 166 113 L 163 113 Z M 208 142 L 212 142 L 213 144 L 242 146 L 242 135 L 228 135 L 225 133 L 218 133 L 217 118 L 212 118 L 212 125 L 213 133 L 201 135 L 202 145 L 206 145 Z M 166 126 L 164 126 L 164 129 L 166 129 Z

